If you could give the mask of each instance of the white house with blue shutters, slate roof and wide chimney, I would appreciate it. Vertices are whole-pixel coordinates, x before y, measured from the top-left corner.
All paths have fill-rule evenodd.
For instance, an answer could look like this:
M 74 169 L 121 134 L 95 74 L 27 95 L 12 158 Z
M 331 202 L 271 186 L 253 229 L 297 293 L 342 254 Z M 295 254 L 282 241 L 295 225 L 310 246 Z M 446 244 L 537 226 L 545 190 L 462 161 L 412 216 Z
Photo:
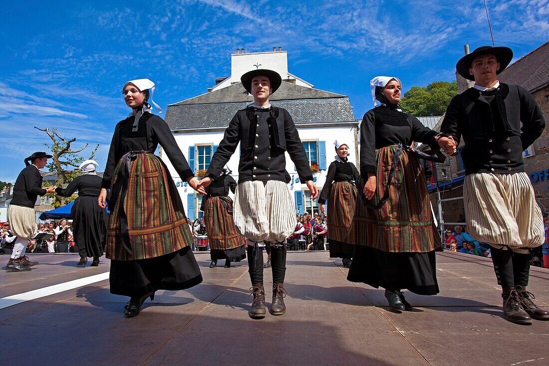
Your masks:
M 282 85 L 270 100 L 273 106 L 285 108 L 292 115 L 310 165 L 317 164 L 320 169 L 313 177 L 319 190 L 322 189 L 327 168 L 335 157 L 335 140 L 348 143 L 352 152 L 349 159 L 357 163 L 359 121 L 352 114 L 349 97 L 315 89 L 309 82 L 289 74 L 285 51 L 232 54 L 232 75 L 218 78 L 217 85 L 209 88 L 208 93 L 170 104 L 166 112 L 166 123 L 193 171 L 208 169 L 211 157 L 234 113 L 253 103 L 253 97 L 240 83 L 240 76 L 258 65 L 259 68 L 274 69 L 282 75 Z M 233 170 L 233 178 L 237 181 L 239 151 L 240 148 L 237 147 L 228 163 Z M 188 217 L 201 217 L 201 196 L 186 182 L 181 181 L 161 149 L 160 157 L 170 169 Z M 296 212 L 318 212 L 317 201 L 311 202 L 309 199 L 307 187 L 299 181 L 288 154 L 286 160 L 286 170 L 292 177 L 288 188 L 292 193 Z

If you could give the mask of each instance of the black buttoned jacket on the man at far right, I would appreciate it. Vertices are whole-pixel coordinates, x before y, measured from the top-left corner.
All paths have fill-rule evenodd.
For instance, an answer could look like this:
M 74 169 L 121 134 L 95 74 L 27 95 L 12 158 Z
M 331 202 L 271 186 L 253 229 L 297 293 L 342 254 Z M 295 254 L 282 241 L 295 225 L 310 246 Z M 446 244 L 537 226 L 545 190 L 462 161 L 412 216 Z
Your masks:
M 524 171 L 522 153 L 545 129 L 540 107 L 523 87 L 500 83 L 492 103 L 469 88 L 446 109 L 440 131 L 457 143 L 463 136 L 465 174 Z

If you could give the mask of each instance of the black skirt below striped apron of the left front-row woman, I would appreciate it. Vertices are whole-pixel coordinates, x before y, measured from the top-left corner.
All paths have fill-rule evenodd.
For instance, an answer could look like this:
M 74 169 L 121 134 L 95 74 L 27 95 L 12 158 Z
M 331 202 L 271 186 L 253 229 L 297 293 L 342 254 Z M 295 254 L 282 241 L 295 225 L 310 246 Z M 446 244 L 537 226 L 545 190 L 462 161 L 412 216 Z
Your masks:
M 110 262 L 110 292 L 141 297 L 156 290 L 184 290 L 202 282 L 191 247 L 150 259 Z

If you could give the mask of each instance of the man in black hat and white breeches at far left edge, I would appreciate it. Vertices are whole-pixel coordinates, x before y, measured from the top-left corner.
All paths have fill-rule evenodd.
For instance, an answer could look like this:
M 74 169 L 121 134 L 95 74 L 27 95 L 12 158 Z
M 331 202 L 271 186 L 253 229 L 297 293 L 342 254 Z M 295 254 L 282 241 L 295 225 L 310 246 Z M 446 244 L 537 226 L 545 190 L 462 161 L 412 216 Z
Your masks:
M 45 152 L 35 152 L 25 159 L 26 168 L 21 170 L 13 187 L 13 198 L 8 208 L 8 221 L 12 232 L 17 236 L 13 246 L 12 257 L 5 266 L 7 272 L 29 271 L 38 264 L 31 262 L 25 252 L 30 238 L 36 232 L 36 216 L 34 206 L 38 196 L 54 193 L 55 187 L 42 188 L 40 169 L 44 168 L 48 158 L 52 156 Z M 30 162 L 30 163 L 29 163 Z

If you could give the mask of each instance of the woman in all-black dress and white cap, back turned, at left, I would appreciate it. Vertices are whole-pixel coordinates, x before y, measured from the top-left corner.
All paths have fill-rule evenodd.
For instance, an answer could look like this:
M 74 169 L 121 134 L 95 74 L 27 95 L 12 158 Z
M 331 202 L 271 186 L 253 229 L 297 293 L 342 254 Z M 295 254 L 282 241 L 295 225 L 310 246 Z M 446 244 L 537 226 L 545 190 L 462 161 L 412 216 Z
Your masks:
M 72 236 L 80 254 L 76 265 L 86 265 L 88 257 L 93 257 L 93 267 L 99 265 L 99 257 L 103 256 L 107 240 L 107 210 L 97 204 L 102 178 L 97 175 L 96 168 L 99 165 L 95 160 L 86 160 L 78 168 L 83 175 L 77 176 L 64 189 L 55 188 L 55 193 L 63 197 L 70 197 L 78 191 L 70 210 Z

